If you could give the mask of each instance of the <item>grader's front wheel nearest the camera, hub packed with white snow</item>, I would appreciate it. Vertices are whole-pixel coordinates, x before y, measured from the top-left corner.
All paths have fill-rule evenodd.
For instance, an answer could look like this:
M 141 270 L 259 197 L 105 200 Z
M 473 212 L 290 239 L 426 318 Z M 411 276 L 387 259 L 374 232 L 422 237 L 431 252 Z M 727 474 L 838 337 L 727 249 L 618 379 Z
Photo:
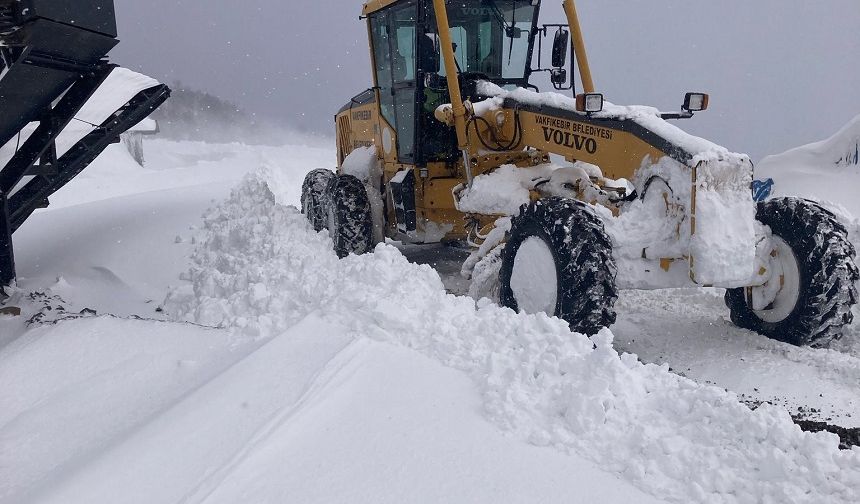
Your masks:
M 502 253 L 500 301 L 557 316 L 590 336 L 615 323 L 616 274 L 600 218 L 581 202 L 543 199 L 513 219 Z

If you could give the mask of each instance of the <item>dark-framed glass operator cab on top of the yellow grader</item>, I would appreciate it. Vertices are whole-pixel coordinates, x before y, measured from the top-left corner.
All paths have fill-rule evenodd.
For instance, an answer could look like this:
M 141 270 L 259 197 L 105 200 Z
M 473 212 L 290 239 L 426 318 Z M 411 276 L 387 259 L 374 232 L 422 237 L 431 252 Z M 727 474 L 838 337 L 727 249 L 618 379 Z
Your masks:
M 446 3 L 464 97 L 480 99 L 478 80 L 528 86 L 539 0 Z M 376 0 L 365 12 L 380 113 L 397 132 L 398 161 L 425 166 L 456 160 L 454 130 L 434 117 L 436 108 L 450 98 L 432 0 Z

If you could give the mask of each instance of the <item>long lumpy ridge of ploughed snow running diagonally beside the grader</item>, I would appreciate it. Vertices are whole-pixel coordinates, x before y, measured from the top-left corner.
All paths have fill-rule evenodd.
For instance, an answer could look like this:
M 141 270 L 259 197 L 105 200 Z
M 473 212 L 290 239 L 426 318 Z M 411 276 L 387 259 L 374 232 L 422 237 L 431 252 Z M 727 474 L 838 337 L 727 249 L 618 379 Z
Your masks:
M 394 247 L 338 261 L 323 234 L 248 178 L 206 216 L 180 318 L 258 337 L 310 313 L 467 372 L 487 416 L 533 444 L 576 452 L 674 502 L 857 502 L 860 449 L 803 433 L 787 412 L 619 356 L 545 315 L 446 294 Z

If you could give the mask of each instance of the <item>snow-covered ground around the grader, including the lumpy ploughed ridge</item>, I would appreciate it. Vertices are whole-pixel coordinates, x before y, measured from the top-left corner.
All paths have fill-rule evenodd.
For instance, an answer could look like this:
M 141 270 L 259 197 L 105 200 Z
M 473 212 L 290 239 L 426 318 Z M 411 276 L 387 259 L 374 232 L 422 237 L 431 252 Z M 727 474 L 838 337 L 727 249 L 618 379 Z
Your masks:
M 595 348 L 447 294 L 456 252 L 337 261 L 287 206 L 330 148 L 146 148 L 16 234 L 0 502 L 860 500 L 860 448 L 788 415 L 860 425 L 853 329 L 798 349 L 717 291 L 630 292 Z

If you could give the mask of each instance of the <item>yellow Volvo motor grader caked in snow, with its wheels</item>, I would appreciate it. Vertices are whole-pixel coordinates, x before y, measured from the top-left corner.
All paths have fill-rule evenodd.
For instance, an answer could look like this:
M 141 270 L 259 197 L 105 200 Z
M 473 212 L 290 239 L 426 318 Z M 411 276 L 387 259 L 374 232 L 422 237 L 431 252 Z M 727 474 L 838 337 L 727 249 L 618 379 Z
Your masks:
M 615 322 L 619 288 L 702 286 L 726 289 L 741 327 L 838 338 L 860 275 L 836 217 L 756 203 L 747 156 L 667 122 L 705 110 L 706 94 L 669 113 L 605 102 L 573 0 L 563 24 L 539 24 L 540 3 L 367 2 L 373 87 L 336 115 L 337 173 L 305 179 L 313 227 L 341 257 L 385 238 L 468 244 L 471 295 L 585 334 Z M 539 72 L 573 92 L 539 92 Z

